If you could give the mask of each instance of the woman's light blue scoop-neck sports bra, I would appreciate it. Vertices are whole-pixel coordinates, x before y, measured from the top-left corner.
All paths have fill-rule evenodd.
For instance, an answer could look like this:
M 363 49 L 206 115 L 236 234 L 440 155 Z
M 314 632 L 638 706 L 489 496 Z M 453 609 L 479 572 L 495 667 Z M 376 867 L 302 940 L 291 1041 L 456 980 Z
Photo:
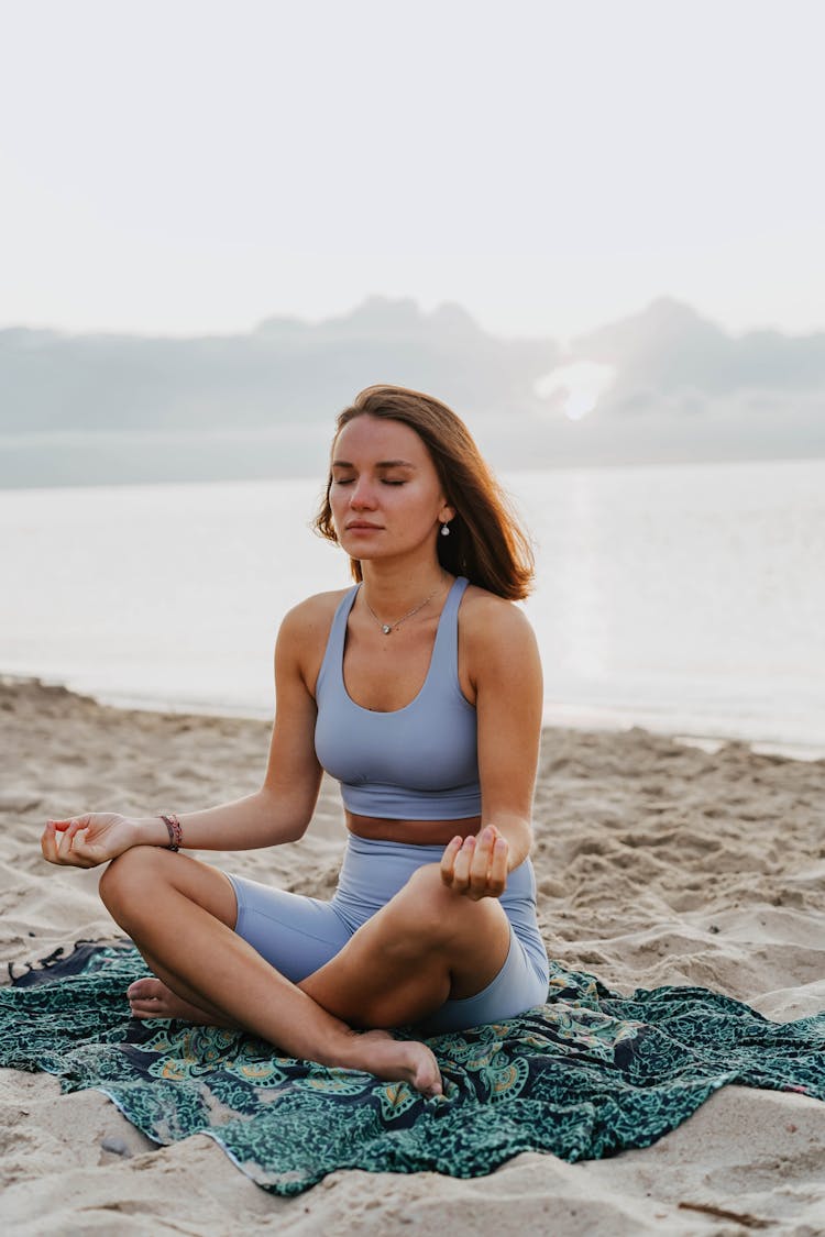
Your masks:
M 360 584 L 341 599 L 315 685 L 315 753 L 359 816 L 460 820 L 481 813 L 476 711 L 459 687 L 459 576 L 438 620 L 427 678 L 403 709 L 375 713 L 344 685 L 346 621 Z

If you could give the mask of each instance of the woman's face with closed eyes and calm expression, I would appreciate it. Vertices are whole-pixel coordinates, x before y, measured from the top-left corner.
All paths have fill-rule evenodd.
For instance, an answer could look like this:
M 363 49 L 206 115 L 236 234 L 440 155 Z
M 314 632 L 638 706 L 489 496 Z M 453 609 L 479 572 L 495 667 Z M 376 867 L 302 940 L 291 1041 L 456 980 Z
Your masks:
M 429 452 L 409 426 L 362 413 L 333 445 L 329 503 L 351 558 L 378 559 L 430 546 L 455 515 Z

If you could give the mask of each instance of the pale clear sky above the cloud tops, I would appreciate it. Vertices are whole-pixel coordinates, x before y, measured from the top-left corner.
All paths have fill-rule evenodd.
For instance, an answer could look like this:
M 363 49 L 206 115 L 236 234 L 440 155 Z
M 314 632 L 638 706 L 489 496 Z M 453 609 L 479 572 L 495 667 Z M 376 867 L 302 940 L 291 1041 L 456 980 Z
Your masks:
M 819 0 L 0 0 L 0 325 L 825 328 Z

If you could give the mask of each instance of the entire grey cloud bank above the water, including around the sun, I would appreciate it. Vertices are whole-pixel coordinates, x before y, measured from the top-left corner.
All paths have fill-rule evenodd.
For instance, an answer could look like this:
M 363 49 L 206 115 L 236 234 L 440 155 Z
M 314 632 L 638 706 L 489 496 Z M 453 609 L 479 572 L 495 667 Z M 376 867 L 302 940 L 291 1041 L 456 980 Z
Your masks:
M 370 297 L 190 339 L 0 332 L 0 485 L 320 474 L 361 388 L 429 391 L 498 468 L 825 455 L 825 334 L 726 334 L 654 301 L 576 339 Z

